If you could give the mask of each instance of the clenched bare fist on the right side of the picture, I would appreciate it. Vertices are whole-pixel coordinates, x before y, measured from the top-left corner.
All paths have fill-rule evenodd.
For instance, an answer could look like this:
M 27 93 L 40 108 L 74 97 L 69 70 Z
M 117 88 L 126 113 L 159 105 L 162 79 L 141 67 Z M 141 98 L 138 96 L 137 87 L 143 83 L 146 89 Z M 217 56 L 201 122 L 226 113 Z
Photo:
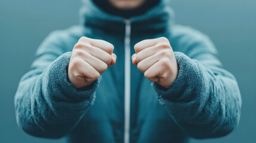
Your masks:
M 132 55 L 132 63 L 151 82 L 169 88 L 177 79 L 178 65 L 171 45 L 166 38 L 138 42 Z

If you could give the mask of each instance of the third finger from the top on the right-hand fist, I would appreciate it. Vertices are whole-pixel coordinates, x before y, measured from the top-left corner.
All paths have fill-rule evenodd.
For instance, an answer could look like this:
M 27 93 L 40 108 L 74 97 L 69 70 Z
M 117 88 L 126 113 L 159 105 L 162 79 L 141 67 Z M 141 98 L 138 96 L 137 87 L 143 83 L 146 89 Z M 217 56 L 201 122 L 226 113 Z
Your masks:
M 155 55 L 145 58 L 144 60 L 140 61 L 140 63 L 138 63 L 138 65 L 137 65 L 138 70 L 140 70 L 142 73 L 144 73 L 147 69 L 149 69 L 155 63 L 157 63 L 159 60 L 161 60 L 161 58 L 162 57 L 159 56 L 158 54 L 155 54 Z

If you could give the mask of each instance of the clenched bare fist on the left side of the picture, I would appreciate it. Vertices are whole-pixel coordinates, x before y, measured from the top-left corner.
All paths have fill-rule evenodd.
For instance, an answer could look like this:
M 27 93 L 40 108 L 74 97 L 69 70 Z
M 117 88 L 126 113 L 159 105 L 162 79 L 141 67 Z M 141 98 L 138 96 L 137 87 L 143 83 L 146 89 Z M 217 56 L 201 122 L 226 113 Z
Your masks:
M 82 37 L 73 48 L 68 78 L 76 88 L 90 85 L 107 67 L 116 63 L 114 46 L 106 41 Z

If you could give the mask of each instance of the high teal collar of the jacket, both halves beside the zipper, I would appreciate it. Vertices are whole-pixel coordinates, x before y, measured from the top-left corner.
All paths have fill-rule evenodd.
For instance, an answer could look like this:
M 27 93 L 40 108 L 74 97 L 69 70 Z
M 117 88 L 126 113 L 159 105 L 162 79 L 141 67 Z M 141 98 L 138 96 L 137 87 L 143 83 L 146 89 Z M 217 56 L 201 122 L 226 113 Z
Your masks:
M 83 0 L 81 24 L 86 27 L 97 27 L 101 30 L 123 30 L 125 18 L 111 15 L 101 10 L 92 0 Z M 169 0 L 161 0 L 158 5 L 142 15 L 129 18 L 132 27 L 137 30 L 165 29 L 173 22 L 173 12 Z

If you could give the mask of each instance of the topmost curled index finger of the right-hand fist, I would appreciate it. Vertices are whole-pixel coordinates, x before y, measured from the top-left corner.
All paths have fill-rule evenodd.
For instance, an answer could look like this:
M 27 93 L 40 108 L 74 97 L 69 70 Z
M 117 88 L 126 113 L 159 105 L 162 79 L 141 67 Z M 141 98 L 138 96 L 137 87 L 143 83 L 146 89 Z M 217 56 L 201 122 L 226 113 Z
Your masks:
M 134 45 L 134 49 L 137 54 L 137 52 L 140 52 L 141 50 L 148 48 L 150 46 L 155 46 L 156 44 L 161 43 L 161 42 L 169 43 L 168 39 L 164 38 L 164 37 L 156 38 L 156 39 L 147 39 L 147 40 L 136 43 Z

